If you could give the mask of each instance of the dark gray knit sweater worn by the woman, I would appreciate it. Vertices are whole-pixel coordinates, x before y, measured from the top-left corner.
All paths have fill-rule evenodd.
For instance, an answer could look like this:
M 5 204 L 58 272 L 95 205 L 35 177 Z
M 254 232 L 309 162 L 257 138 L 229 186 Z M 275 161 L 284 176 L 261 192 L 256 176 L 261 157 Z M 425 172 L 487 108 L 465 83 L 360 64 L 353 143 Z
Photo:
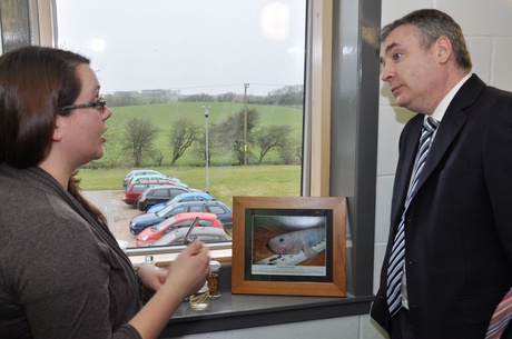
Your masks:
M 140 338 L 131 263 L 40 168 L 0 164 L 0 338 Z

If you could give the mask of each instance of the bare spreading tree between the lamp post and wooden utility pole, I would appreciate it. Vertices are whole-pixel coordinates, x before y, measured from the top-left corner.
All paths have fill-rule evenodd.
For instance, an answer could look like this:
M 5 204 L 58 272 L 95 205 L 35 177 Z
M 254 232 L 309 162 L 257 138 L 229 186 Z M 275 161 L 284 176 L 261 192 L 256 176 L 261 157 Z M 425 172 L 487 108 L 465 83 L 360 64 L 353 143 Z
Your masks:
M 255 109 L 247 110 L 247 144 L 252 143 L 252 131 L 258 120 L 258 112 Z M 232 149 L 238 164 L 244 164 L 245 160 L 245 110 L 242 109 L 236 114 L 230 116 L 220 123 L 213 126 L 211 136 L 215 144 L 224 149 Z M 247 158 L 252 154 L 248 151 Z

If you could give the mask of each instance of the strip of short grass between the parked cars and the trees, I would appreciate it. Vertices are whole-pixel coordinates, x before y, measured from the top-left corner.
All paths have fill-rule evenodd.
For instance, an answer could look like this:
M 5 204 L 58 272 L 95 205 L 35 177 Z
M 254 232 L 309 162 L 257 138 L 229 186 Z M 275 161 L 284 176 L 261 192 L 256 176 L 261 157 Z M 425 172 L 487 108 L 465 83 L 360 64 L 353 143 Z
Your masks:
M 151 168 L 178 178 L 189 187 L 206 190 L 203 167 Z M 122 178 L 131 169 L 81 169 L 78 177 L 85 191 L 120 190 Z M 301 166 L 210 167 L 209 193 L 229 207 L 233 196 L 301 196 Z

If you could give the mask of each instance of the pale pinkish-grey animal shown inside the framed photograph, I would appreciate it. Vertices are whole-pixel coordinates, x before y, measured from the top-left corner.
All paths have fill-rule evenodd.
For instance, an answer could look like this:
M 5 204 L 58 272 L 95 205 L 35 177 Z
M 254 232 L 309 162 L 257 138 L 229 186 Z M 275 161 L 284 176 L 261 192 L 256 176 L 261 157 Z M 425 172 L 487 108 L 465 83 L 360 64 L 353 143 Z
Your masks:
M 298 255 L 303 250 L 312 259 L 318 256 L 312 246 L 323 239 L 325 227 L 314 227 L 274 237 L 268 241 L 268 248 L 276 255 Z

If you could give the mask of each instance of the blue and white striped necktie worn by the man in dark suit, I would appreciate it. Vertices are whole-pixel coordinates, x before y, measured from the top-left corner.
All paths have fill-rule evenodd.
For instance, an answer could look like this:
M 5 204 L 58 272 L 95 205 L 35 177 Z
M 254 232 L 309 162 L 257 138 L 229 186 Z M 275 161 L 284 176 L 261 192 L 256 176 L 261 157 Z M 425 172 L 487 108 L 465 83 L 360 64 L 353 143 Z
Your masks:
M 402 308 L 401 287 L 402 276 L 404 272 L 404 258 L 405 258 L 405 215 L 407 208 L 414 197 L 417 180 L 423 170 L 423 167 L 429 156 L 432 136 L 440 122 L 432 117 L 429 117 L 423 122 L 422 136 L 420 138 L 420 148 L 416 153 L 416 164 L 413 171 L 413 179 L 411 181 L 407 198 L 405 199 L 404 211 L 398 225 L 398 230 L 395 235 L 391 257 L 387 265 L 387 307 L 390 315 L 393 317 Z

